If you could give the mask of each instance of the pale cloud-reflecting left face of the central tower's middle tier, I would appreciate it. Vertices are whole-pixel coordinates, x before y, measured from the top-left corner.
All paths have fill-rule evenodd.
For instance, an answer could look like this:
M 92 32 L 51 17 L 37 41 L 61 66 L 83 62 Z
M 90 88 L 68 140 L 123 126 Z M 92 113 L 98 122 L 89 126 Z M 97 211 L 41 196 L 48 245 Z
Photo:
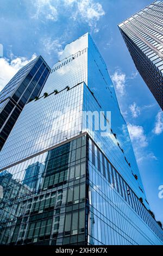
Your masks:
M 82 102 L 83 84 L 79 84 L 27 104 L 1 151 L 0 168 L 77 136 L 82 131 Z

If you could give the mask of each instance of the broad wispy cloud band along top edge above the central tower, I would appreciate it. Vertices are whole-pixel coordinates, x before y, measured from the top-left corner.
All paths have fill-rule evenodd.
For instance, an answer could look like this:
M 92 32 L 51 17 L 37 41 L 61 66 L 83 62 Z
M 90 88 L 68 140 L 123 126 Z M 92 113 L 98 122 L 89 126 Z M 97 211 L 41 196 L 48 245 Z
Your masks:
M 87 23 L 93 32 L 98 32 L 97 21 L 105 15 L 101 3 L 94 0 L 35 0 L 32 2 L 35 19 L 42 17 L 44 20 L 57 21 L 63 11 L 70 14 L 73 20 Z

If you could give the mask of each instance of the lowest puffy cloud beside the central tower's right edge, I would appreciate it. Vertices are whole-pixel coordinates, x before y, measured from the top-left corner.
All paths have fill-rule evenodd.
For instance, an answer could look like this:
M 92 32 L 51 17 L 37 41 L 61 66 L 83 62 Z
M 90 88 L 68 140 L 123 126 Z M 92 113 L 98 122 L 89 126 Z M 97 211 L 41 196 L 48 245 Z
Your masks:
M 131 141 L 138 147 L 147 147 L 148 142 L 143 127 L 139 125 L 132 125 L 130 123 L 127 124 L 127 127 Z

